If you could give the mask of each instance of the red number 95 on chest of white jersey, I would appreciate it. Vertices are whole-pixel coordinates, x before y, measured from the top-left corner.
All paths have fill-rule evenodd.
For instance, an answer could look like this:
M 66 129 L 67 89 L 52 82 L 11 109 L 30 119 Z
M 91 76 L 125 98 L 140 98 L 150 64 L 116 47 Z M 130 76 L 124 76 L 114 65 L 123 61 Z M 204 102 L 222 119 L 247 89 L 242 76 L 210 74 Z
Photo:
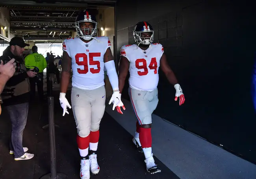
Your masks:
M 100 72 L 100 62 L 93 61 L 93 57 L 100 57 L 100 53 L 89 53 L 89 65 L 97 65 L 97 68 L 90 68 L 90 72 L 95 74 Z M 76 64 L 81 65 L 84 67 L 82 70 L 81 68 L 77 68 L 77 72 L 79 74 L 87 74 L 88 70 L 88 56 L 86 54 L 76 54 Z M 79 58 L 83 58 L 83 61 L 79 61 Z

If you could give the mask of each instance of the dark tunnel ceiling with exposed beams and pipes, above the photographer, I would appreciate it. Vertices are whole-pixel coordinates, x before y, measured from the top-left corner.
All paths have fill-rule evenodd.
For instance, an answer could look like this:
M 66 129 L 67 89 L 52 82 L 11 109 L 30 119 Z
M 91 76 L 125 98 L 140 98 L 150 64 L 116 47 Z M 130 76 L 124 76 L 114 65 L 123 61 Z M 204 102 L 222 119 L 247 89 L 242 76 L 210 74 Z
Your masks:
M 0 7 L 10 13 L 10 31 L 26 40 L 61 40 L 75 31 L 78 13 L 88 9 L 113 8 L 115 0 L 1 0 Z M 55 33 L 54 33 L 55 32 Z

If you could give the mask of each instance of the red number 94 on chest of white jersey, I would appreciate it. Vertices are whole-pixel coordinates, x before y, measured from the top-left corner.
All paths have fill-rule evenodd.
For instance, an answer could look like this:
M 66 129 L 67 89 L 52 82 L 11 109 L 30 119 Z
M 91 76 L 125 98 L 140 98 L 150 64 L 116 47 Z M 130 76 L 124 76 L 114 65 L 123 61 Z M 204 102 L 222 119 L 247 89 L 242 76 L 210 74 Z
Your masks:
M 147 61 L 145 59 L 137 59 L 135 61 L 135 66 L 138 69 L 143 69 L 144 71 L 138 71 L 139 76 L 147 75 L 148 74 L 148 68 L 150 70 L 154 70 L 154 74 L 157 74 L 157 62 L 156 57 L 152 58 L 150 61 L 149 66 L 147 67 Z

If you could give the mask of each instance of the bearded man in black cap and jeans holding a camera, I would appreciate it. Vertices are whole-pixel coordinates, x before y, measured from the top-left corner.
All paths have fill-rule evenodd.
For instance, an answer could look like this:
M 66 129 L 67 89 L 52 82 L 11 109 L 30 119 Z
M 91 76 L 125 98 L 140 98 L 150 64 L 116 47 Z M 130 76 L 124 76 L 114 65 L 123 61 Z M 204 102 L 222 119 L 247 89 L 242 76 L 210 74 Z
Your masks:
M 14 153 L 14 160 L 28 160 L 34 154 L 27 153 L 28 148 L 22 147 L 23 130 L 27 123 L 28 101 L 30 98 L 29 77 L 36 76 L 36 72 L 26 70 L 22 58 L 24 47 L 29 46 L 21 37 L 13 37 L 9 46 L 4 50 L 0 60 L 7 64 L 11 59 L 15 59 L 15 74 L 7 81 L 2 92 L 3 106 L 6 107 L 12 124 L 10 154 Z

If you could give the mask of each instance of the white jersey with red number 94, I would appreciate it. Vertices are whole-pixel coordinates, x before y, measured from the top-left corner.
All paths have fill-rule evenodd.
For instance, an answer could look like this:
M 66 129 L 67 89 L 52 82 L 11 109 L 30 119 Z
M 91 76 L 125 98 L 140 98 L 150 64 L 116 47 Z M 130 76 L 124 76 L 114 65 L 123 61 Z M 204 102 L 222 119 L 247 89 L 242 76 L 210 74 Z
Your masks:
M 152 43 L 147 50 L 142 50 L 136 44 L 124 45 L 120 55 L 130 61 L 129 85 L 132 89 L 153 91 L 158 86 L 158 69 L 163 55 L 163 46 Z

